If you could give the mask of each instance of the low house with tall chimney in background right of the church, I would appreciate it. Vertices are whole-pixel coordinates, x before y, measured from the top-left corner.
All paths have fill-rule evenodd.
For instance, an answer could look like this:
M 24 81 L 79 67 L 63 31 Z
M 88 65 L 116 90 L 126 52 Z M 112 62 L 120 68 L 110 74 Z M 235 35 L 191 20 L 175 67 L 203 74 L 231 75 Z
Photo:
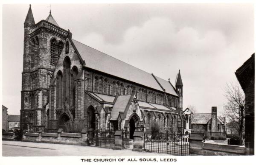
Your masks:
M 212 106 L 212 113 L 196 113 L 191 115 L 191 132 L 210 135 L 226 135 L 226 117 L 217 116 L 217 107 Z

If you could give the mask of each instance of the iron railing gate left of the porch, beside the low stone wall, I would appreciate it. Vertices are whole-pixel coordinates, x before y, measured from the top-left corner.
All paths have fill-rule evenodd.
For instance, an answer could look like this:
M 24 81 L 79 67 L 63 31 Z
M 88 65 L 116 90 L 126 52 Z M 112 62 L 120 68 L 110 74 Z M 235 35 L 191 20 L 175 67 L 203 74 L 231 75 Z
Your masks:
M 115 136 L 112 131 L 89 130 L 89 145 L 93 147 L 110 148 L 115 146 Z

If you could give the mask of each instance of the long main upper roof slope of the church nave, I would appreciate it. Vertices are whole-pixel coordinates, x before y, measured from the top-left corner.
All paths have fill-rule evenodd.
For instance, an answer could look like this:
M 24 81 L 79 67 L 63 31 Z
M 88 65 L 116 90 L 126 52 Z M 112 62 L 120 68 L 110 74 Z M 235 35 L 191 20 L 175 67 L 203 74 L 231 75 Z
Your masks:
M 109 56 L 105 53 L 100 52 L 99 50 L 84 45 L 74 39 L 72 39 L 72 42 L 78 50 L 81 58 L 84 60 L 86 67 L 108 73 L 119 78 L 124 78 L 126 80 L 142 84 L 146 87 L 163 91 L 163 89 L 160 87 L 160 85 L 150 73 L 147 73 L 143 70 L 138 69 L 137 67 L 122 62 L 119 59 L 113 58 L 112 56 Z M 164 82 L 165 80 L 160 79 L 160 81 L 161 84 L 166 89 L 168 89 L 167 93 L 177 96 L 177 93 L 175 92 L 175 90 L 172 89 L 171 84 L 169 84 L 168 87 L 168 84 Z

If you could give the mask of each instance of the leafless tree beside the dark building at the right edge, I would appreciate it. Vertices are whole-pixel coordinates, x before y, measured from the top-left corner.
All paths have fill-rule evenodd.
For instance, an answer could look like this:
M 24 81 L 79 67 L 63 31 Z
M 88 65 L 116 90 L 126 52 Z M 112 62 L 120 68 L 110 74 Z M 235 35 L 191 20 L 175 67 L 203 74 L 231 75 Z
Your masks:
M 225 96 L 227 103 L 224 104 L 224 115 L 230 120 L 242 137 L 245 117 L 245 95 L 238 82 L 226 85 Z

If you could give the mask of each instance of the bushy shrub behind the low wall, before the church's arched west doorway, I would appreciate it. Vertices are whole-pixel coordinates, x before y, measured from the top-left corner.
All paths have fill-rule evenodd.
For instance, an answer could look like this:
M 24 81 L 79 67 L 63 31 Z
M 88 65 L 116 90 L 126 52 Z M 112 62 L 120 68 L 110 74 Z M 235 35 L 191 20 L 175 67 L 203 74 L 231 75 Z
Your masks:
M 81 133 L 84 127 L 84 120 L 67 121 L 64 123 L 64 132 Z

